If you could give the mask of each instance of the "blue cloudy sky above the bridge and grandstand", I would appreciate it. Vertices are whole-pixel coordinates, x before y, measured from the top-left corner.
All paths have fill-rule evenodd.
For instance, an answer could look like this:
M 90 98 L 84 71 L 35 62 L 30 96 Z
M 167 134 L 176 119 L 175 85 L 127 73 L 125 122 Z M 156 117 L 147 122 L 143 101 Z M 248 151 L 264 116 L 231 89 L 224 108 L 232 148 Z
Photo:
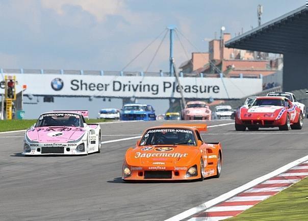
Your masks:
M 266 22 L 305 1 L 1 0 L 0 67 L 121 70 L 169 24 L 207 51 L 202 39 L 219 36 L 222 25 L 233 36 L 256 27 L 258 4 Z M 159 41 L 126 70 L 145 70 Z M 168 50 L 166 38 L 149 71 L 168 70 Z M 174 54 L 177 66 L 187 60 L 177 38 Z

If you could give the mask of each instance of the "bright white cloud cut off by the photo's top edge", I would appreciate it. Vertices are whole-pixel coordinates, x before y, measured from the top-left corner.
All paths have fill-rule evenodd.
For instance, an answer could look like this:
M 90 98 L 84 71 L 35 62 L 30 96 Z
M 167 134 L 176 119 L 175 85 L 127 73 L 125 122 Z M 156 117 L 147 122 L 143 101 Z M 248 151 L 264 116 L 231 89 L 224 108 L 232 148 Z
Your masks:
M 59 14 L 64 14 L 65 5 L 80 6 L 84 11 L 92 14 L 98 21 L 106 20 L 108 15 L 126 13 L 122 0 L 41 0 L 42 7 L 50 8 Z

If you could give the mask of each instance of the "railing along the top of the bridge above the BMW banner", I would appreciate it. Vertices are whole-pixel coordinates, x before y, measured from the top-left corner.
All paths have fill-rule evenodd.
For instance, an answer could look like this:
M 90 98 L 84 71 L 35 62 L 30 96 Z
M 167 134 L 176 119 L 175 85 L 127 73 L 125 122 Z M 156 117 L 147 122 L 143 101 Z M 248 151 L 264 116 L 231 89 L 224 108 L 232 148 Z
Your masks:
M 0 68 L 0 74 L 41 74 L 41 75 L 95 75 L 95 76 L 146 76 L 146 77 L 169 77 L 168 72 L 143 72 L 143 71 L 109 71 L 109 70 L 64 70 L 64 69 L 8 69 Z M 210 77 L 221 78 L 222 74 L 206 73 L 183 73 L 179 72 L 179 77 Z M 262 75 L 232 75 L 230 78 L 262 78 Z

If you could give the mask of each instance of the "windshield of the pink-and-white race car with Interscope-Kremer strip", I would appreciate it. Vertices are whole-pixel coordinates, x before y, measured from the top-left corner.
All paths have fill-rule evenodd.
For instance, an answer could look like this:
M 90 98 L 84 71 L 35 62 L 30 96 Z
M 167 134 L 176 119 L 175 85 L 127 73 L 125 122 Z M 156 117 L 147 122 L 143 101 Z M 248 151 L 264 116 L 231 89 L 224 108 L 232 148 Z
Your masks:
M 47 113 L 40 115 L 35 127 L 83 127 L 83 122 L 79 114 Z

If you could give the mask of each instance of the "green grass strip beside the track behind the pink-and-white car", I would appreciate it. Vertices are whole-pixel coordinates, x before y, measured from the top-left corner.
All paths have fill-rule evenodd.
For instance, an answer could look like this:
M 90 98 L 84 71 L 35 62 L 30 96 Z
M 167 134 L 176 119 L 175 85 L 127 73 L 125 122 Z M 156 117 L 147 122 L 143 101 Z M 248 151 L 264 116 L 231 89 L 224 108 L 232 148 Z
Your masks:
M 35 120 L 0 120 L 0 132 L 5 131 L 17 131 L 17 130 L 24 130 L 30 128 L 32 125 L 36 123 Z M 98 122 L 106 122 L 109 120 L 104 119 L 89 119 L 86 120 L 89 123 L 98 123 Z

